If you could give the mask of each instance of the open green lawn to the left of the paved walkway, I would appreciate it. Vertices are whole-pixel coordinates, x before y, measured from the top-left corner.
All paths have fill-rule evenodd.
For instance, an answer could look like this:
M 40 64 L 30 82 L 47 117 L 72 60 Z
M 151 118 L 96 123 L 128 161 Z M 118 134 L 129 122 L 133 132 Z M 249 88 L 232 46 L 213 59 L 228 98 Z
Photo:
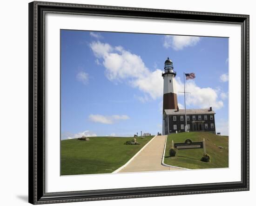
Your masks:
M 112 173 L 131 159 L 154 136 L 137 138 L 140 145 L 125 145 L 133 137 L 89 137 L 61 141 L 61 175 Z

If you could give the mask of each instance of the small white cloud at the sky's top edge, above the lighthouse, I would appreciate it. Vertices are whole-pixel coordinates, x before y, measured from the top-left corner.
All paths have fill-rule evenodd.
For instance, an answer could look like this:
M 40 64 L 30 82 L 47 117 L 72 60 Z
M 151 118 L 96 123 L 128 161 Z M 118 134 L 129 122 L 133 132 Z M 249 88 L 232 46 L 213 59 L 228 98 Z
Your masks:
M 187 46 L 194 46 L 200 41 L 200 37 L 191 36 L 164 36 L 163 46 L 165 48 L 172 47 L 175 51 L 182 50 Z

